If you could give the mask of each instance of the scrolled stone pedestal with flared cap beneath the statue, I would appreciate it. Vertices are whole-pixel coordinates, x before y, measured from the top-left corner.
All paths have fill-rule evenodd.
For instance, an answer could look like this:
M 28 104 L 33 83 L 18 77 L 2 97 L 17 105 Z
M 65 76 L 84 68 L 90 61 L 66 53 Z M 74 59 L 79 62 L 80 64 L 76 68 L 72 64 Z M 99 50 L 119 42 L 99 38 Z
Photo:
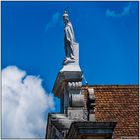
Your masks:
M 61 113 L 69 115 L 74 109 L 73 111 L 77 110 L 77 113 L 83 116 L 83 113 L 79 111 L 84 107 L 84 96 L 81 90 L 82 74 L 80 67 L 72 64 L 64 66 L 59 72 L 53 93 L 61 100 Z

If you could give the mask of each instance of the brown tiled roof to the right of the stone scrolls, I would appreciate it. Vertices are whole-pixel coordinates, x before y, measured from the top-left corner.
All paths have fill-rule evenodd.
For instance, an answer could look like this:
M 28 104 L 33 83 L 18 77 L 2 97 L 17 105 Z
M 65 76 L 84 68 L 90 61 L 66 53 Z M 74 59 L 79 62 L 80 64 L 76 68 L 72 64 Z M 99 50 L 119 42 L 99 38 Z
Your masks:
M 89 87 L 95 91 L 96 121 L 116 121 L 113 138 L 138 138 L 139 87 L 137 85 Z

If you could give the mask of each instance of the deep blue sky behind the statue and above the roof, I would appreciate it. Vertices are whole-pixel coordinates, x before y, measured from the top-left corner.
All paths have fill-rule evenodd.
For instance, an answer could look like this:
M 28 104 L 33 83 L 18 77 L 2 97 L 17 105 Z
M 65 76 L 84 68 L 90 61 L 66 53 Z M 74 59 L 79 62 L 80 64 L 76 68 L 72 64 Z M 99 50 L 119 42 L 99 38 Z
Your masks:
M 39 75 L 51 92 L 65 56 L 65 9 L 88 83 L 138 84 L 138 2 L 2 2 L 2 68 Z

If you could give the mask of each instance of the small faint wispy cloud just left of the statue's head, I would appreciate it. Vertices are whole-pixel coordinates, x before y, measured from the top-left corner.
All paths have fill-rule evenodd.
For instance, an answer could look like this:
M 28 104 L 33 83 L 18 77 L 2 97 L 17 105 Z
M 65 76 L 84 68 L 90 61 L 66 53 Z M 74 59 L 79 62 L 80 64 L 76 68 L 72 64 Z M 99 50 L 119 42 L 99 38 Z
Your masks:
M 48 23 L 46 24 L 45 31 L 57 25 L 57 23 L 59 22 L 60 15 L 61 14 L 59 12 L 56 12 L 55 14 L 53 14 L 50 21 L 48 21 Z

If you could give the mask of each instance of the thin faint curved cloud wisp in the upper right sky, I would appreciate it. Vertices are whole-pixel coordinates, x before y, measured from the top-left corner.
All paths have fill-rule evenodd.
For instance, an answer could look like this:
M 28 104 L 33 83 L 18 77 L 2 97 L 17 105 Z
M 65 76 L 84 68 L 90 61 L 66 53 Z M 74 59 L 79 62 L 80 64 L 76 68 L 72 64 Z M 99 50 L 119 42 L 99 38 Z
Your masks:
M 114 17 L 114 18 L 119 18 L 123 16 L 129 15 L 131 12 L 134 10 L 134 4 L 132 2 L 129 2 L 127 6 L 123 7 L 123 10 L 121 13 L 116 13 L 114 10 L 107 9 L 106 10 L 106 16 L 108 17 Z

